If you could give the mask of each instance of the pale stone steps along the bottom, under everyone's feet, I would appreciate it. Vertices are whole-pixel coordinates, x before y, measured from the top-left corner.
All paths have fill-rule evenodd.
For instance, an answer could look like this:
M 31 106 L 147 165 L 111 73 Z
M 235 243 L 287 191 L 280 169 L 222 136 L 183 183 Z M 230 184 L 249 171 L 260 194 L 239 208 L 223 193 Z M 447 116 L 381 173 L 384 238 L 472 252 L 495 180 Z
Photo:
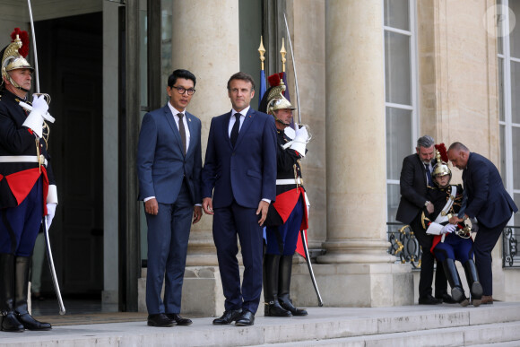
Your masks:
M 517 341 L 520 303 L 480 308 L 458 305 L 392 308 L 308 308 L 307 317 L 256 317 L 254 326 L 193 325 L 149 327 L 144 321 L 55 326 L 50 332 L 0 332 L 4 346 L 246 346 L 246 345 L 478 345 Z M 289 344 L 287 344 L 289 343 Z

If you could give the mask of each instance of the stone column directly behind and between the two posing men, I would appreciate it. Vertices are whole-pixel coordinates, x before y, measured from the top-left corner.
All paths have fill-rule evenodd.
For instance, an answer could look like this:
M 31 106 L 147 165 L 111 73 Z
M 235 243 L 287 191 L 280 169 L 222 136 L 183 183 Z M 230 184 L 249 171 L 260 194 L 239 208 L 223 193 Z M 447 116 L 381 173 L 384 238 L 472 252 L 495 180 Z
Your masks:
M 197 78 L 186 109 L 203 123 L 204 160 L 211 119 L 231 109 L 227 82 L 240 68 L 238 0 L 174 0 L 173 11 L 172 67 L 187 69 Z M 218 265 L 211 216 L 204 214 L 192 228 L 187 265 Z

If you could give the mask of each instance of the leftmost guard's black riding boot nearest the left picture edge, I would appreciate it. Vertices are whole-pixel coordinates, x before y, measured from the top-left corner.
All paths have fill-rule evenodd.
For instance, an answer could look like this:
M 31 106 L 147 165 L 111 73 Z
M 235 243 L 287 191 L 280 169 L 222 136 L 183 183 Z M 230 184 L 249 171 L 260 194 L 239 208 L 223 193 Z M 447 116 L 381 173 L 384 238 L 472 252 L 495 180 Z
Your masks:
M 3 332 L 22 332 L 22 323 L 14 313 L 14 256 L 0 254 L 0 326 Z

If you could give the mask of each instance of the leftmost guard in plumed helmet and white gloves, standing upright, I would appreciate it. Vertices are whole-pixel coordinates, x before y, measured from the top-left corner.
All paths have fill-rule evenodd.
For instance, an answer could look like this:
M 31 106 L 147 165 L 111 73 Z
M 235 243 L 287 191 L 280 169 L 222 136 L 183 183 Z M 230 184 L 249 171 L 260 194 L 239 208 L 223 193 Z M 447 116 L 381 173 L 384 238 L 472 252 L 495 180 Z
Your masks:
M 47 94 L 27 101 L 34 69 L 26 31 L 16 28 L 13 42 L 0 52 L 0 319 L 1 330 L 49 330 L 27 307 L 30 255 L 44 216 L 56 211 L 55 178 L 48 156 Z

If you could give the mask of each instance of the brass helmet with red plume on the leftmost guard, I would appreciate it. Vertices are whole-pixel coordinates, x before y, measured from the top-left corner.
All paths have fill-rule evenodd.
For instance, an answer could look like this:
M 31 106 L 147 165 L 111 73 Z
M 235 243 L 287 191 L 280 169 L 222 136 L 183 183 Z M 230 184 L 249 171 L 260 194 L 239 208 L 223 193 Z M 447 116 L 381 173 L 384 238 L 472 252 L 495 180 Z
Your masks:
M 8 73 L 16 69 L 30 69 L 30 71 L 34 71 L 29 62 L 25 60 L 25 56 L 29 54 L 29 36 L 27 31 L 15 28 L 11 38 L 13 42 L 0 52 L 0 56 L 2 56 L 2 83 L 5 79 L 13 84 L 14 87 L 21 88 Z

